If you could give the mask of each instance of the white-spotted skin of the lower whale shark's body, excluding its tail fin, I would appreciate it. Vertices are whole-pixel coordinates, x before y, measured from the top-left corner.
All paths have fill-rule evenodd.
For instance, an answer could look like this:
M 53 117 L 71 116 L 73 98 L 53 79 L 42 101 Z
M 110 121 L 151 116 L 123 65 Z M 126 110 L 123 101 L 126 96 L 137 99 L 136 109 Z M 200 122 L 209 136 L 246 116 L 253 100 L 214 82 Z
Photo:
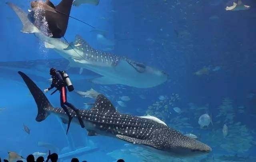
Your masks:
M 74 111 L 70 114 L 75 117 Z M 61 109 L 49 109 L 54 113 L 61 113 Z M 64 112 L 62 112 L 64 113 Z M 116 137 L 132 142 L 144 144 L 160 150 L 186 148 L 188 150 L 210 152 L 211 148 L 164 124 L 131 115 L 118 113 L 106 97 L 99 95 L 91 110 L 80 110 L 84 121 L 90 121 L 97 130 L 116 135 Z

